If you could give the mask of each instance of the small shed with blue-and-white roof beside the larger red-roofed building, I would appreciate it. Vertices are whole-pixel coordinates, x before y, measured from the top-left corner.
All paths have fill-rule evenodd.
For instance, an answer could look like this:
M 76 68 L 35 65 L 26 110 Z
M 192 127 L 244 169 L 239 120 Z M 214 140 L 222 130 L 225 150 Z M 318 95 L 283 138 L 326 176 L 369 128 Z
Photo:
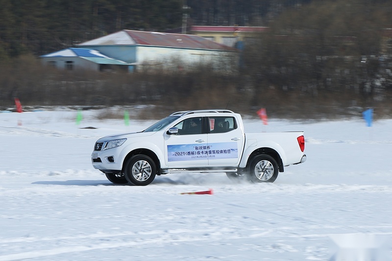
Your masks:
M 67 48 L 40 56 L 48 66 L 65 70 L 126 71 L 128 63 L 113 59 L 95 49 Z

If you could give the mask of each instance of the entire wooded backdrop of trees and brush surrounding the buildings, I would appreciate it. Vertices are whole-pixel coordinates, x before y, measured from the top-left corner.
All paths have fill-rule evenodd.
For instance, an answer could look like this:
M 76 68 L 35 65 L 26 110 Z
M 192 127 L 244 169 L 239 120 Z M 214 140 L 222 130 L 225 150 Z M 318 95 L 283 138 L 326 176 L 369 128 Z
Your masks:
M 182 110 L 229 103 L 229 109 L 244 113 L 266 107 L 272 117 L 292 118 L 360 115 L 372 107 L 376 118 L 392 116 L 388 0 L 150 0 L 117 5 L 110 0 L 42 0 L 36 3 L 41 13 L 33 2 L 0 0 L 1 108 L 12 106 L 18 96 L 25 105 L 154 104 L 165 112 L 168 105 Z M 15 8 L 29 3 L 30 12 Z M 245 44 L 240 69 L 232 74 L 209 65 L 181 72 L 70 73 L 51 71 L 37 61 L 43 50 L 70 47 L 118 29 L 179 27 L 184 4 L 191 7 L 192 24 L 270 29 Z M 64 13 L 55 15 L 56 8 Z

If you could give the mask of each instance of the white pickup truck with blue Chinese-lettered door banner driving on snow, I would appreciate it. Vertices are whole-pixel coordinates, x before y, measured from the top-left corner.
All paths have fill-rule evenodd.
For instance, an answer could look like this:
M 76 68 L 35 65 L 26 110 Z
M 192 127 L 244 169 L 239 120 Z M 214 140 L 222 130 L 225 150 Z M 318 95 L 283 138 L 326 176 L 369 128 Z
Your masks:
M 176 112 L 142 132 L 99 139 L 94 168 L 115 184 L 150 184 L 173 172 L 225 172 L 231 179 L 274 182 L 284 167 L 306 161 L 302 131 L 245 133 L 229 110 Z

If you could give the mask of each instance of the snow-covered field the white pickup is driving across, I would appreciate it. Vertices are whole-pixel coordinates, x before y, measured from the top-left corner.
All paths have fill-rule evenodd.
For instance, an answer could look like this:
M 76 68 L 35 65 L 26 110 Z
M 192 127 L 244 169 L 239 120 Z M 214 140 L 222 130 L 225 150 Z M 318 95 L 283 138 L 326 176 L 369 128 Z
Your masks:
M 328 260 L 333 235 L 392 235 L 392 120 L 247 119 L 247 132 L 305 131 L 307 161 L 273 184 L 188 173 L 135 187 L 90 155 L 152 122 L 97 113 L 78 125 L 75 111 L 0 113 L 0 261 Z

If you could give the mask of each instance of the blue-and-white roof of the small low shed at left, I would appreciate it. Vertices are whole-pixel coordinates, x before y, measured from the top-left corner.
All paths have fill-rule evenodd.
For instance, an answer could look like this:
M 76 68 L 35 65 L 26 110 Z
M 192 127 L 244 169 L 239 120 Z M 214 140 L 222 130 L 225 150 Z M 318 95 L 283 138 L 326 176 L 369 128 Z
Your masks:
M 110 58 L 97 50 L 89 48 L 67 48 L 49 54 L 41 55 L 40 57 L 80 57 L 85 60 L 92 61 L 97 64 L 114 64 L 127 65 L 128 63 Z

